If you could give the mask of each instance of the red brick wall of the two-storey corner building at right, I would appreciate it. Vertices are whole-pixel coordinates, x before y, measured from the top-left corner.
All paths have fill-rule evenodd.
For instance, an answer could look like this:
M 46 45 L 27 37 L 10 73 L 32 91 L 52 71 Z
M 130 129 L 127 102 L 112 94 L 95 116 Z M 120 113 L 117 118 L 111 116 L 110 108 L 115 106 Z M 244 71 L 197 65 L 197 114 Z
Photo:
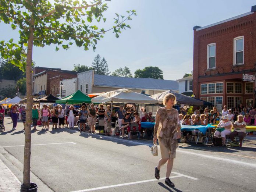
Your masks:
M 244 36 L 244 64 L 235 67 L 234 38 L 238 36 Z M 207 70 L 207 45 L 210 43 L 216 43 L 216 69 L 213 70 Z M 255 63 L 256 13 L 199 31 L 194 30 L 193 93 L 196 97 L 200 96 L 199 82 L 241 79 L 243 70 L 252 70 Z M 232 69 L 235 71 L 234 74 L 231 74 Z M 205 73 L 206 78 L 202 77 Z M 220 76 L 217 73 L 224 75 Z M 246 73 L 252 74 L 252 72 Z

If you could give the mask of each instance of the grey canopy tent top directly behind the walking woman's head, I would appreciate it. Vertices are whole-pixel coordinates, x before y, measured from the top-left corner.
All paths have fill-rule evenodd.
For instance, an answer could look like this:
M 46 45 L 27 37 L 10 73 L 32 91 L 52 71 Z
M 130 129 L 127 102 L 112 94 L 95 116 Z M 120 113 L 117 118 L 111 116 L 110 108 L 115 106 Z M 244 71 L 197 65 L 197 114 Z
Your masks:
M 176 96 L 176 100 L 178 104 L 185 104 L 185 105 L 195 105 L 195 106 L 202 106 L 203 101 L 199 101 L 197 99 L 194 99 L 192 97 L 188 97 L 186 95 L 182 95 L 180 93 L 176 93 L 172 90 L 168 90 L 166 92 L 157 93 L 155 95 L 150 96 L 153 99 L 156 99 L 159 101 L 159 103 L 163 103 L 164 96 L 168 93 L 173 93 L 173 95 Z

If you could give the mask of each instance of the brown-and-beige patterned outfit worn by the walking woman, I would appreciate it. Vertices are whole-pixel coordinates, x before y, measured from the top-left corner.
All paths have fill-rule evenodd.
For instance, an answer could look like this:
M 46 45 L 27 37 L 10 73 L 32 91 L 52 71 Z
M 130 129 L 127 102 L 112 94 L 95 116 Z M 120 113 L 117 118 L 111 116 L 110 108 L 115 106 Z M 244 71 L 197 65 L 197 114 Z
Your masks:
M 175 158 L 178 147 L 177 132 L 180 128 L 177 109 L 161 107 L 157 110 L 154 136 L 159 140 L 162 159 Z

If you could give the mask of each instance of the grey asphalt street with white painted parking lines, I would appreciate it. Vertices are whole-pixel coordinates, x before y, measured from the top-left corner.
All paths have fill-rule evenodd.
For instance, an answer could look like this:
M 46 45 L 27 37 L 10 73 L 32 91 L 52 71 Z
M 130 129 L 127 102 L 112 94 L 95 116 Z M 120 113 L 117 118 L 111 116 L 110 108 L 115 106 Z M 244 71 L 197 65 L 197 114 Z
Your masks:
M 11 131 L 10 118 L 4 121 L 1 153 L 7 151 L 22 163 L 23 124 Z M 170 188 L 164 184 L 166 166 L 162 179 L 154 178 L 160 156 L 150 153 L 152 141 L 38 128 L 32 131 L 31 171 L 56 192 L 256 191 L 256 145 L 239 149 L 182 143 L 171 174 L 175 188 Z

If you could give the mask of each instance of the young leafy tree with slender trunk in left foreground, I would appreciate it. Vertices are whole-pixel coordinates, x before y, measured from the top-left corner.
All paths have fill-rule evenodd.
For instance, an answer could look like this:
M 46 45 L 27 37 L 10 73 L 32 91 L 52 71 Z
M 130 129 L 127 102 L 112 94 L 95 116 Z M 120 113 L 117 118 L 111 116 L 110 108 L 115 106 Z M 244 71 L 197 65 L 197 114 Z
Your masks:
M 108 0 L 109 1 L 109 0 Z M 25 150 L 23 185 L 30 185 L 31 124 L 32 124 L 32 50 L 33 46 L 56 45 L 67 50 L 75 43 L 84 50 L 96 49 L 97 41 L 108 31 L 118 38 L 122 29 L 130 28 L 125 24 L 136 15 L 135 10 L 128 15 L 116 14 L 114 25 L 105 30 L 96 26 L 106 21 L 103 13 L 107 10 L 104 0 L 1 0 L 0 21 L 19 30 L 19 39 L 0 41 L 1 57 L 21 70 L 26 69 L 27 111 L 25 124 Z

